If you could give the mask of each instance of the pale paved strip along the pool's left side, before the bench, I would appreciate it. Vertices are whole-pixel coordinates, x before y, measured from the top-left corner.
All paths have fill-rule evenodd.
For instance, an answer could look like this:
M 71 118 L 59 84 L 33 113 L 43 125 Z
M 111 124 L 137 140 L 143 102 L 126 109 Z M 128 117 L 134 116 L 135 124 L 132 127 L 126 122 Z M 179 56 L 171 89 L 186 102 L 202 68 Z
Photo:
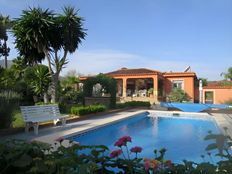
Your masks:
M 39 129 L 39 134 L 35 135 L 34 131 L 29 133 L 18 133 L 15 135 L 10 135 L 8 137 L 0 138 L 0 140 L 5 139 L 23 139 L 26 141 L 41 141 L 49 144 L 53 144 L 54 141 L 60 137 L 69 137 L 77 133 L 85 132 L 86 130 L 96 129 L 103 125 L 110 124 L 115 121 L 120 121 L 122 119 L 132 117 L 136 114 L 141 114 L 146 112 L 146 110 L 132 109 L 128 111 L 122 111 L 118 113 L 111 113 L 103 116 L 96 116 L 91 119 L 77 121 L 74 123 L 66 124 L 65 126 L 54 126 L 44 129 Z

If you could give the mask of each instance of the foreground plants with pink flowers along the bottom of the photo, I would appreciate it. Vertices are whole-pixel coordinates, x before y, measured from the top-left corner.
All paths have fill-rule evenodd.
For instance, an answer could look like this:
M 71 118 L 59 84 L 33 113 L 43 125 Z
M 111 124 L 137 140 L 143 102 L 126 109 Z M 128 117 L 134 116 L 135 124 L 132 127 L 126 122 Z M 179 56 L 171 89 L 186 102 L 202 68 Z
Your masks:
M 40 142 L 11 140 L 0 144 L 0 173 L 46 173 L 46 174 L 229 174 L 232 173 L 231 138 L 209 133 L 205 140 L 215 140 L 206 150 L 218 148 L 217 164 L 183 161 L 174 164 L 165 160 L 166 149 L 154 150 L 154 158 L 139 158 L 143 150 L 135 146 L 130 136 L 115 142 L 116 149 L 109 152 L 106 146 L 81 146 L 69 141 L 64 146 L 63 138 L 54 146 Z M 65 140 L 67 141 L 67 140 Z M 227 142 L 227 143 L 225 143 Z M 62 144 L 63 143 L 63 144 Z M 208 154 L 210 154 L 208 152 Z

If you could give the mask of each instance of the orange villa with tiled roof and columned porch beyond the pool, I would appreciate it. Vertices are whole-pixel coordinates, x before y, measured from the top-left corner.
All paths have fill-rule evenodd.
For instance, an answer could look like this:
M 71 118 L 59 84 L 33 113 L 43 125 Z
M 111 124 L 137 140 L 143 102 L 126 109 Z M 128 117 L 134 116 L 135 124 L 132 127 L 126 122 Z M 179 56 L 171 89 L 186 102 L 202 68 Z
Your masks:
M 117 99 L 126 101 L 150 101 L 159 103 L 168 100 L 173 88 L 183 89 L 192 102 L 199 99 L 198 79 L 195 72 L 188 67 L 183 72 L 160 72 L 146 68 L 121 68 L 105 73 L 117 80 Z M 80 77 L 83 82 L 87 76 Z

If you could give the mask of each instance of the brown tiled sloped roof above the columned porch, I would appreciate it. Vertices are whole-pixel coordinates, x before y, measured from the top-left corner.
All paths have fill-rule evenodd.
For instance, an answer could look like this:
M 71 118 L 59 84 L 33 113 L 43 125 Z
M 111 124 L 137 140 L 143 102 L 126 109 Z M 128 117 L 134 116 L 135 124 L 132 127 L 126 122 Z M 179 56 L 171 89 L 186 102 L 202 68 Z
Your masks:
M 127 69 L 127 68 L 121 68 L 116 71 L 112 71 L 109 73 L 106 73 L 105 75 L 115 76 L 115 75 L 144 75 L 144 74 L 158 74 L 159 71 L 150 70 L 146 68 L 138 68 L 138 69 Z

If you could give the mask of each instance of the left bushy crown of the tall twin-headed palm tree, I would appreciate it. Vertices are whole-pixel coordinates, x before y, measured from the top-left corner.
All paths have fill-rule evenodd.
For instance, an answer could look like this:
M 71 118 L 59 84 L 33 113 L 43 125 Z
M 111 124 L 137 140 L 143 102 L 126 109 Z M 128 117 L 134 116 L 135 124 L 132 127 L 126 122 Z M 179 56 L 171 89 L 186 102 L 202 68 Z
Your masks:
M 21 17 L 14 21 L 16 48 L 30 65 L 40 63 L 48 55 L 53 15 L 48 9 L 30 8 L 24 10 Z

